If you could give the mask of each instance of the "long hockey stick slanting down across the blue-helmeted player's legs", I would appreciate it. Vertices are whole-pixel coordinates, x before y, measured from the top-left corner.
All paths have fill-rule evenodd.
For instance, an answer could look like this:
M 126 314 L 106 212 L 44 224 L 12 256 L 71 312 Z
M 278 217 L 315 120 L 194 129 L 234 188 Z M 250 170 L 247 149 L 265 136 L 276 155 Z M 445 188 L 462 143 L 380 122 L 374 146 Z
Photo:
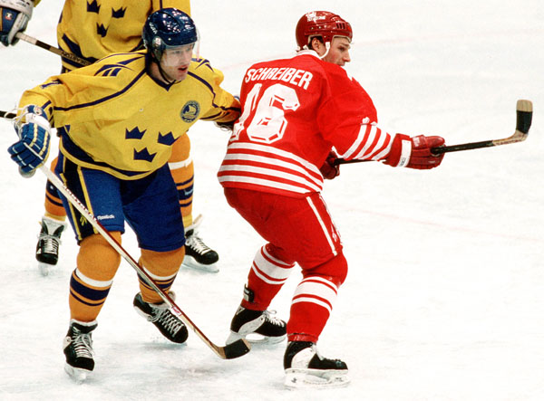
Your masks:
M 251 346 L 246 339 L 238 339 L 225 347 L 219 347 L 211 342 L 208 337 L 206 337 L 206 335 L 204 335 L 204 333 L 192 322 L 192 320 L 190 320 L 189 317 L 182 310 L 180 310 L 174 300 L 171 299 L 170 295 L 160 289 L 157 283 L 153 281 L 151 276 L 141 268 L 140 264 L 138 264 L 138 262 L 136 262 L 131 255 L 124 250 L 121 244 L 112 237 L 112 234 L 108 233 L 103 225 L 100 224 L 100 222 L 91 214 L 91 212 L 89 212 L 89 210 L 87 210 L 85 205 L 83 205 L 81 201 L 75 195 L 73 195 L 72 191 L 70 191 L 70 189 L 64 185 L 63 181 L 61 181 L 61 179 L 57 177 L 48 167 L 42 166 L 39 168 L 49 179 L 49 181 L 51 181 L 53 186 L 55 186 L 63 194 L 63 196 L 66 196 L 68 201 L 83 215 L 83 217 L 87 219 L 89 223 L 92 224 L 96 231 L 98 231 L 98 233 L 101 234 L 105 240 L 110 243 L 110 245 L 112 245 L 112 248 L 121 254 L 122 258 L 127 261 L 136 272 L 138 272 L 141 278 L 160 295 L 162 301 L 166 302 L 176 316 L 178 316 L 180 320 L 182 320 L 190 329 L 192 329 L 199 336 L 199 338 L 217 354 L 219 358 L 233 359 L 241 357 L 249 352 Z

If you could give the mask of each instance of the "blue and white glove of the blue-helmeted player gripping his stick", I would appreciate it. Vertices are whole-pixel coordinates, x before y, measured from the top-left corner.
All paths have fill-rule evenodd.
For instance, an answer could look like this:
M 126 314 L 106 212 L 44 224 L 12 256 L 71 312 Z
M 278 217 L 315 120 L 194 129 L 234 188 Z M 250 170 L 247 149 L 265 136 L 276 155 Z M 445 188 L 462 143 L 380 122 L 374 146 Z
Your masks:
M 45 113 L 38 106 L 26 106 L 21 118 L 15 124 L 20 140 L 7 148 L 12 158 L 19 165 L 23 177 L 31 177 L 34 170 L 45 163 L 49 156 L 51 126 Z

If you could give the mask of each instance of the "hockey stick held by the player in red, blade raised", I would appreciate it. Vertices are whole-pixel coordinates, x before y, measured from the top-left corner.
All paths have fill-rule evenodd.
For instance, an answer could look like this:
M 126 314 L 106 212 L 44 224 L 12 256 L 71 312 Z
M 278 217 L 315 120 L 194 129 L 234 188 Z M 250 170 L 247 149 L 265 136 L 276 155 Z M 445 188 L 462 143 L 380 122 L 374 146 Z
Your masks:
M 502 139 L 490 139 L 482 140 L 481 142 L 461 143 L 460 145 L 442 146 L 438 148 L 432 148 L 433 155 L 442 155 L 448 152 L 459 152 L 461 150 L 471 150 L 479 148 L 491 148 L 500 145 L 508 145 L 510 143 L 522 142 L 529 136 L 530 124 L 532 121 L 532 102 L 530 100 L 518 100 L 516 104 L 516 131 L 508 138 Z M 373 160 L 345 160 L 344 158 L 337 158 L 335 160 L 335 166 L 361 163 L 364 161 Z

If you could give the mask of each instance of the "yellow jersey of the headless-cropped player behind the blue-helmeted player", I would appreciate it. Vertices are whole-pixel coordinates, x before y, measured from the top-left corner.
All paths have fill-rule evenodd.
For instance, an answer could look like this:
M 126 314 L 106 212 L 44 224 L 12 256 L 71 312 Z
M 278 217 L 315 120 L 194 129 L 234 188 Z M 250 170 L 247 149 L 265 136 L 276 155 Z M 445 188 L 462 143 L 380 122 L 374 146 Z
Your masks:
M 148 15 L 167 7 L 190 15 L 189 0 L 66 0 L 57 25 L 59 47 L 89 62 L 140 50 Z M 63 67 L 73 70 L 81 65 L 63 58 Z

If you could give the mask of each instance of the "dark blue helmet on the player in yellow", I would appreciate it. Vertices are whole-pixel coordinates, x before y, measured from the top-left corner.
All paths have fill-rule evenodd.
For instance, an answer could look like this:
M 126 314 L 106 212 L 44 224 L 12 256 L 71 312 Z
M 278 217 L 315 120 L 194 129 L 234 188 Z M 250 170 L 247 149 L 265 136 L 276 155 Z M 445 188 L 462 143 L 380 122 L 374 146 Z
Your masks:
M 177 8 L 162 8 L 150 14 L 141 37 L 145 48 L 159 62 L 166 49 L 199 40 L 194 21 Z

